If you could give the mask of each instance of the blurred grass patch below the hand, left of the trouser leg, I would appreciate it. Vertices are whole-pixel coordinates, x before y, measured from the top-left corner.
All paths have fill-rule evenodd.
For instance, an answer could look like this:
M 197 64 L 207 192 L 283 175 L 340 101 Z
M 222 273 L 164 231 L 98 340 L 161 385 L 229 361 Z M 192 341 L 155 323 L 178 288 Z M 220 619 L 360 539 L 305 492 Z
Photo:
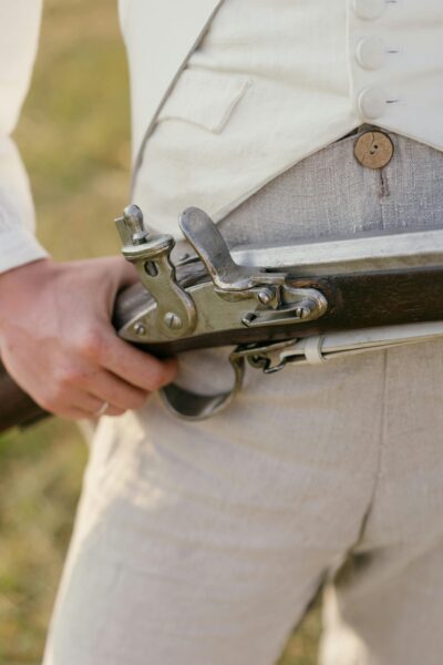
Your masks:
M 0 663 L 40 663 L 85 447 L 51 420 L 0 439 Z

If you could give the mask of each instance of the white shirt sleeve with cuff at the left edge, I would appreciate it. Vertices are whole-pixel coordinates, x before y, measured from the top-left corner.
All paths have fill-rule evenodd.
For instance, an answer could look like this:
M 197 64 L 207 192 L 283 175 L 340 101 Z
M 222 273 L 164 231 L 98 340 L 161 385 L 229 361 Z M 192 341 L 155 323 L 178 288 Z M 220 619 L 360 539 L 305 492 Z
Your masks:
M 31 80 L 42 0 L 0 0 L 0 272 L 43 258 L 28 176 L 11 139 Z

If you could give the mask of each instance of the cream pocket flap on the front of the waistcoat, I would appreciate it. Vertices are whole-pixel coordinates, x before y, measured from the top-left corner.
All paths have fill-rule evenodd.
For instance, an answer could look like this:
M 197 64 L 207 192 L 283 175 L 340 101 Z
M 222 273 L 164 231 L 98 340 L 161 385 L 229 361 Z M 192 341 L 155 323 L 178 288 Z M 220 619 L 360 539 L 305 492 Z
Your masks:
M 157 122 L 184 120 L 218 134 L 250 85 L 246 76 L 185 69 Z

